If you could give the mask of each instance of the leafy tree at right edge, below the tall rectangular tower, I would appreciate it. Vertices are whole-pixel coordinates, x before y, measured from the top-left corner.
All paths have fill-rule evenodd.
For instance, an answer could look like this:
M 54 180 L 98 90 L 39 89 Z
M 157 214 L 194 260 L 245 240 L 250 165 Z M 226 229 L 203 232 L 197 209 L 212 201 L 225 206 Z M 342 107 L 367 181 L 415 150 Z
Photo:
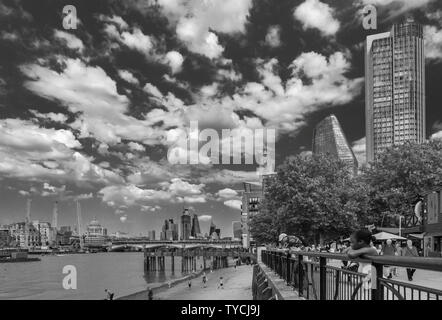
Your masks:
M 442 184 L 441 158 L 442 142 L 438 140 L 385 150 L 363 170 L 369 210 L 381 214 L 384 226 L 396 226 L 398 214 L 413 215 L 419 196 Z

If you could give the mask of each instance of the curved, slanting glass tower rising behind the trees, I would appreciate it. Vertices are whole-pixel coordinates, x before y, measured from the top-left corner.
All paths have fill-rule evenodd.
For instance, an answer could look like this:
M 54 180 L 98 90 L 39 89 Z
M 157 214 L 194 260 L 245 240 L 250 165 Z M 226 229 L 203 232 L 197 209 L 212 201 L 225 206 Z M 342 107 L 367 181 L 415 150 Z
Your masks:
M 358 162 L 335 115 L 326 117 L 316 125 L 312 150 L 313 154 L 328 154 L 342 160 L 352 174 L 357 174 Z

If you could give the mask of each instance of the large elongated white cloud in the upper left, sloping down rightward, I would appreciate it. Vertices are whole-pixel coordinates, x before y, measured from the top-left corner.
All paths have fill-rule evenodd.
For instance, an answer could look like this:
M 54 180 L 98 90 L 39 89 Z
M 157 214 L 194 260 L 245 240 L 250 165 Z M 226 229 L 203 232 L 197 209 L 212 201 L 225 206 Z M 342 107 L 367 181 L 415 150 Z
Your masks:
M 79 59 L 62 58 L 66 68 L 56 72 L 47 67 L 30 64 L 21 67 L 32 80 L 26 88 L 48 99 L 58 100 L 69 111 L 80 113 L 70 124 L 82 138 L 94 137 L 109 145 L 121 139 L 158 144 L 164 133 L 154 122 L 127 115 L 129 99 L 120 95 L 116 83 L 100 67 L 85 65 Z M 88 79 L 88 81 L 84 81 Z M 166 97 L 165 103 L 169 101 Z M 175 118 L 164 116 L 168 124 Z

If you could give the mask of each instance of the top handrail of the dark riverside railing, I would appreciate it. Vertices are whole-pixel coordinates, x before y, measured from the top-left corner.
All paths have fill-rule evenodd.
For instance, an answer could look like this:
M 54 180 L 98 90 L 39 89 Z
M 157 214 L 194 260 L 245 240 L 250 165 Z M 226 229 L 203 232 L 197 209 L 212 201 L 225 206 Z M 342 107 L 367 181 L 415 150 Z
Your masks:
M 382 265 L 393 265 L 398 267 L 425 269 L 442 272 L 442 259 L 429 257 L 403 257 L 403 256 L 364 256 L 364 258 L 351 259 L 346 254 L 330 252 L 294 251 L 283 249 L 266 249 L 270 252 L 285 253 L 291 255 L 302 255 L 306 257 L 328 258 L 344 261 L 358 261 L 366 263 L 376 263 Z

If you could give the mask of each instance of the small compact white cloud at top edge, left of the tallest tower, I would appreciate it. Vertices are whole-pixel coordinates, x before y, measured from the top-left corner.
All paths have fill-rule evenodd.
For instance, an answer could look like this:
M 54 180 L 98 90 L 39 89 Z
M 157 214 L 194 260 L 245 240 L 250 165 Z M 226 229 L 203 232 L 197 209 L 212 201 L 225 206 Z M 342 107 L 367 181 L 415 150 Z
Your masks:
M 325 36 L 335 35 L 339 30 L 340 23 L 333 16 L 334 9 L 319 0 L 306 0 L 294 11 L 294 17 L 304 29 L 318 29 Z

